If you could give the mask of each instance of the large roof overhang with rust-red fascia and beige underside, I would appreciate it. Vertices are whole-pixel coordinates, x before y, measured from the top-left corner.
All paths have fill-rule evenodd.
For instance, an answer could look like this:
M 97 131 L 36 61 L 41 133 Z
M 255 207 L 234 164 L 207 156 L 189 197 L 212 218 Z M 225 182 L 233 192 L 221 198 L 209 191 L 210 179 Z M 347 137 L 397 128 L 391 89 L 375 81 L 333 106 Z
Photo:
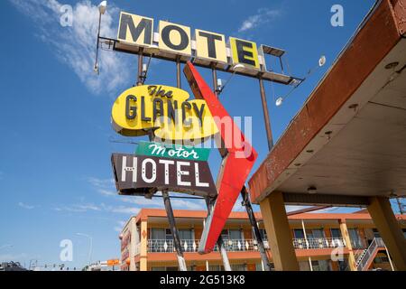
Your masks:
M 405 7 L 374 6 L 249 181 L 254 202 L 312 186 L 322 195 L 406 195 Z

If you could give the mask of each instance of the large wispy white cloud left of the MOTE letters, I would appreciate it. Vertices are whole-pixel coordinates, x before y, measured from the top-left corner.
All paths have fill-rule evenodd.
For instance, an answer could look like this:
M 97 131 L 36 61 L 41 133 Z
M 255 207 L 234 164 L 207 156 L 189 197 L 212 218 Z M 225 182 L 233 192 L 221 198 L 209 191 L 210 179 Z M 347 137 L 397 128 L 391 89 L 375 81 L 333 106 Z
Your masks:
M 130 81 L 125 55 L 114 51 L 100 51 L 100 75 L 93 67 L 96 58 L 98 27 L 97 5 L 82 0 L 73 7 L 72 27 L 60 25 L 60 4 L 56 0 L 9 0 L 21 13 L 30 17 L 39 28 L 39 37 L 51 45 L 55 56 L 67 64 L 78 78 L 95 94 L 116 93 Z M 115 38 L 118 12 L 110 5 L 103 15 L 101 35 Z M 123 89 L 123 88 L 121 88 Z

